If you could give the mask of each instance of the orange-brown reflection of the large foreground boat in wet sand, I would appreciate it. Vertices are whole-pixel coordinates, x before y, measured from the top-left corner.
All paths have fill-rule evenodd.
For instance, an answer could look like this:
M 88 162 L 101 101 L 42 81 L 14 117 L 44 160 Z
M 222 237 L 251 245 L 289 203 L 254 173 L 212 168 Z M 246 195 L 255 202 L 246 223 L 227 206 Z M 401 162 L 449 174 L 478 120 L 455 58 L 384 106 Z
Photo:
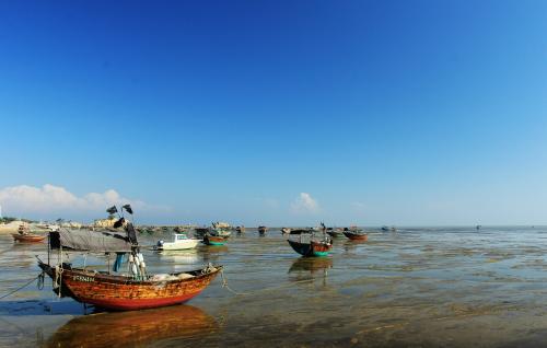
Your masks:
M 131 347 L 166 338 L 200 337 L 218 330 L 214 318 L 191 305 L 98 313 L 61 326 L 46 347 Z

